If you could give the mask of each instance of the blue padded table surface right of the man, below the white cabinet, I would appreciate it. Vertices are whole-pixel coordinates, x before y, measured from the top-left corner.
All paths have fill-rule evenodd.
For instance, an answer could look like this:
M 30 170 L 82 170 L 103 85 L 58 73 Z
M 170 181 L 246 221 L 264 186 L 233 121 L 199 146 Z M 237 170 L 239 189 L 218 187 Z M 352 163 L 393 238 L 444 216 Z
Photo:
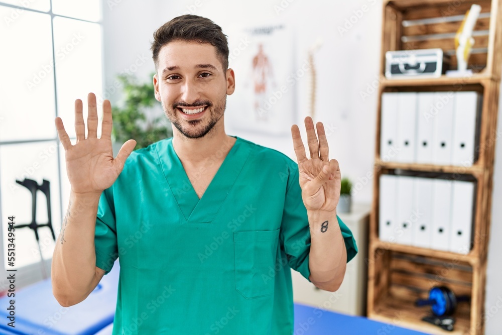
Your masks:
M 439 328 L 438 328 L 439 329 Z M 334 313 L 295 303 L 294 335 L 429 335 L 423 332 L 369 320 L 362 316 Z

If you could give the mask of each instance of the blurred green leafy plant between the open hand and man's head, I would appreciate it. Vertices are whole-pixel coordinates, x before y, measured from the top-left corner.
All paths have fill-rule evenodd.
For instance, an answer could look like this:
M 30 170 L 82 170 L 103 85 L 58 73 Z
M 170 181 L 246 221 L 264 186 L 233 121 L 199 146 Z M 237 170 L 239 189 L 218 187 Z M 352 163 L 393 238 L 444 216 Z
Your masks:
M 158 102 L 152 83 L 139 83 L 136 77 L 128 75 L 119 75 L 117 79 L 122 84 L 125 97 L 121 106 L 112 107 L 112 134 L 115 141 L 124 143 L 134 139 L 137 142 L 136 150 L 172 137 L 173 131 L 166 127 L 164 114 L 147 120 L 146 111 Z

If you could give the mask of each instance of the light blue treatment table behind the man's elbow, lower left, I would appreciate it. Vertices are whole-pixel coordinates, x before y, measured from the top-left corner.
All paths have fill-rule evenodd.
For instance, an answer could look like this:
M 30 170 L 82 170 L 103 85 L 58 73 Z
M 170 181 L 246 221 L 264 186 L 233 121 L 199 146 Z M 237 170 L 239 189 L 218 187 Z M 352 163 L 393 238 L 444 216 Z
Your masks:
M 90 335 L 113 322 L 117 302 L 118 261 L 82 302 L 62 307 L 46 279 L 16 290 L 16 296 L 0 299 L 0 334 Z M 15 300 L 15 328 L 7 325 L 9 300 Z

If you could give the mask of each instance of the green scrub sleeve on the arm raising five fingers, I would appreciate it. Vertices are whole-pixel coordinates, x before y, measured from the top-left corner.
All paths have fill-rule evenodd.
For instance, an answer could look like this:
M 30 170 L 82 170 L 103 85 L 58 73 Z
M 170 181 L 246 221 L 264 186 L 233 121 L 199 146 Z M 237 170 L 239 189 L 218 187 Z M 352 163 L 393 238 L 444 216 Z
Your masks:
M 118 257 L 117 232 L 115 223 L 112 187 L 105 189 L 99 198 L 96 215 L 94 245 L 96 248 L 96 266 L 110 272 Z

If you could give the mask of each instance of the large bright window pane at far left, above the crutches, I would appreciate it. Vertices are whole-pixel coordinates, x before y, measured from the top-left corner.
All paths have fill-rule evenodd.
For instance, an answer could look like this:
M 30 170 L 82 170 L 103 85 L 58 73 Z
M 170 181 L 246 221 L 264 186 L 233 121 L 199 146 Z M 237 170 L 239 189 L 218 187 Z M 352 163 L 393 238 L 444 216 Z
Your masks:
M 0 18 L 11 8 L 0 6 Z M 0 25 L 0 141 L 56 137 L 51 17 L 23 12 Z M 14 51 L 14 52 L 13 52 Z

